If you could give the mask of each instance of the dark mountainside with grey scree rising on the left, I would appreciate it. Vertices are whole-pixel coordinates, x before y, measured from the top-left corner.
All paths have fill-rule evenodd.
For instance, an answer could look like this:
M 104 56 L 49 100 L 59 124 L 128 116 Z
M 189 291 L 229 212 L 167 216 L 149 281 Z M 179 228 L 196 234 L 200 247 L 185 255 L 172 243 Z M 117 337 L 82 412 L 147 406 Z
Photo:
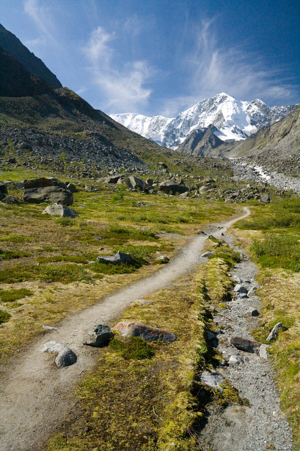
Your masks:
M 19 60 L 24 57 L 29 70 L 1 50 L 3 42 Z M 84 158 L 103 168 L 144 167 L 140 154 L 163 153 L 165 149 L 93 109 L 71 90 L 55 89 L 53 84 L 61 86 L 53 81 L 55 76 L 51 84 L 45 82 L 52 73 L 42 63 L 39 69 L 44 66 L 46 71 L 41 78 L 35 74 L 36 65 L 34 55 L 0 28 L 0 152 L 30 152 L 40 161 Z

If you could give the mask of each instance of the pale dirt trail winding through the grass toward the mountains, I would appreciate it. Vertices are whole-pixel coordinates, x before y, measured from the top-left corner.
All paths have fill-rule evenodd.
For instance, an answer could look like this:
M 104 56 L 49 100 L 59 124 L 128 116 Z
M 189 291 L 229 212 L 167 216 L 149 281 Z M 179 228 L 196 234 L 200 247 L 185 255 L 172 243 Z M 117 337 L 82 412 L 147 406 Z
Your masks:
M 218 238 L 221 232 L 248 216 L 244 214 L 217 224 L 210 233 Z M 73 407 L 70 392 L 84 370 L 90 369 L 99 350 L 83 346 L 87 330 L 97 324 L 111 324 L 117 315 L 135 299 L 166 288 L 171 282 L 201 262 L 207 237 L 197 236 L 181 252 L 153 276 L 125 287 L 101 299 L 92 307 L 81 310 L 62 321 L 58 330 L 39 337 L 28 351 L 20 353 L 17 361 L 3 373 L 0 381 L 0 451 L 34 451 L 55 431 Z M 53 354 L 41 353 L 47 341 L 54 340 L 70 347 L 77 363 L 58 369 Z

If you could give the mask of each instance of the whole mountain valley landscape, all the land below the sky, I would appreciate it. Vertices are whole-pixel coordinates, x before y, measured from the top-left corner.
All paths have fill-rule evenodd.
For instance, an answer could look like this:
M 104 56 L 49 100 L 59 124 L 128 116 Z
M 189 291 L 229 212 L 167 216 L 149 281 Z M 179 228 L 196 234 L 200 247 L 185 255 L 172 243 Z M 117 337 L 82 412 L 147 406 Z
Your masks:
M 0 68 L 1 451 L 300 450 L 300 106 Z

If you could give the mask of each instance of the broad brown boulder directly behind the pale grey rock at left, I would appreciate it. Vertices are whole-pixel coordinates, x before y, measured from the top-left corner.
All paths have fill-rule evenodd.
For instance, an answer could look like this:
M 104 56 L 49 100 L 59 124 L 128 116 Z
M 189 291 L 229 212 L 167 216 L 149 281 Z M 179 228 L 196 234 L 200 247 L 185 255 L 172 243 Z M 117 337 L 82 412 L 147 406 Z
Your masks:
M 62 205 L 72 205 L 73 194 L 68 189 L 56 186 L 46 186 L 42 188 L 30 188 L 23 190 L 24 202 L 28 203 L 61 203 Z

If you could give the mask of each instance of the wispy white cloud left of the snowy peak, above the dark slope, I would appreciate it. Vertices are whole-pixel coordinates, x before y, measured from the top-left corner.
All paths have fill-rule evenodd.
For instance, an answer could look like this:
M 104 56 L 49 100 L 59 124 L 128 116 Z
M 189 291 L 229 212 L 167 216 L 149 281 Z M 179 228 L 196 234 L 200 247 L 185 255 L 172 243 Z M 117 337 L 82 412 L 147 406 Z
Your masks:
M 114 33 L 97 27 L 83 51 L 91 64 L 93 83 L 101 91 L 102 108 L 135 111 L 145 105 L 151 90 L 145 87 L 154 71 L 147 61 L 122 62 L 113 47 Z

